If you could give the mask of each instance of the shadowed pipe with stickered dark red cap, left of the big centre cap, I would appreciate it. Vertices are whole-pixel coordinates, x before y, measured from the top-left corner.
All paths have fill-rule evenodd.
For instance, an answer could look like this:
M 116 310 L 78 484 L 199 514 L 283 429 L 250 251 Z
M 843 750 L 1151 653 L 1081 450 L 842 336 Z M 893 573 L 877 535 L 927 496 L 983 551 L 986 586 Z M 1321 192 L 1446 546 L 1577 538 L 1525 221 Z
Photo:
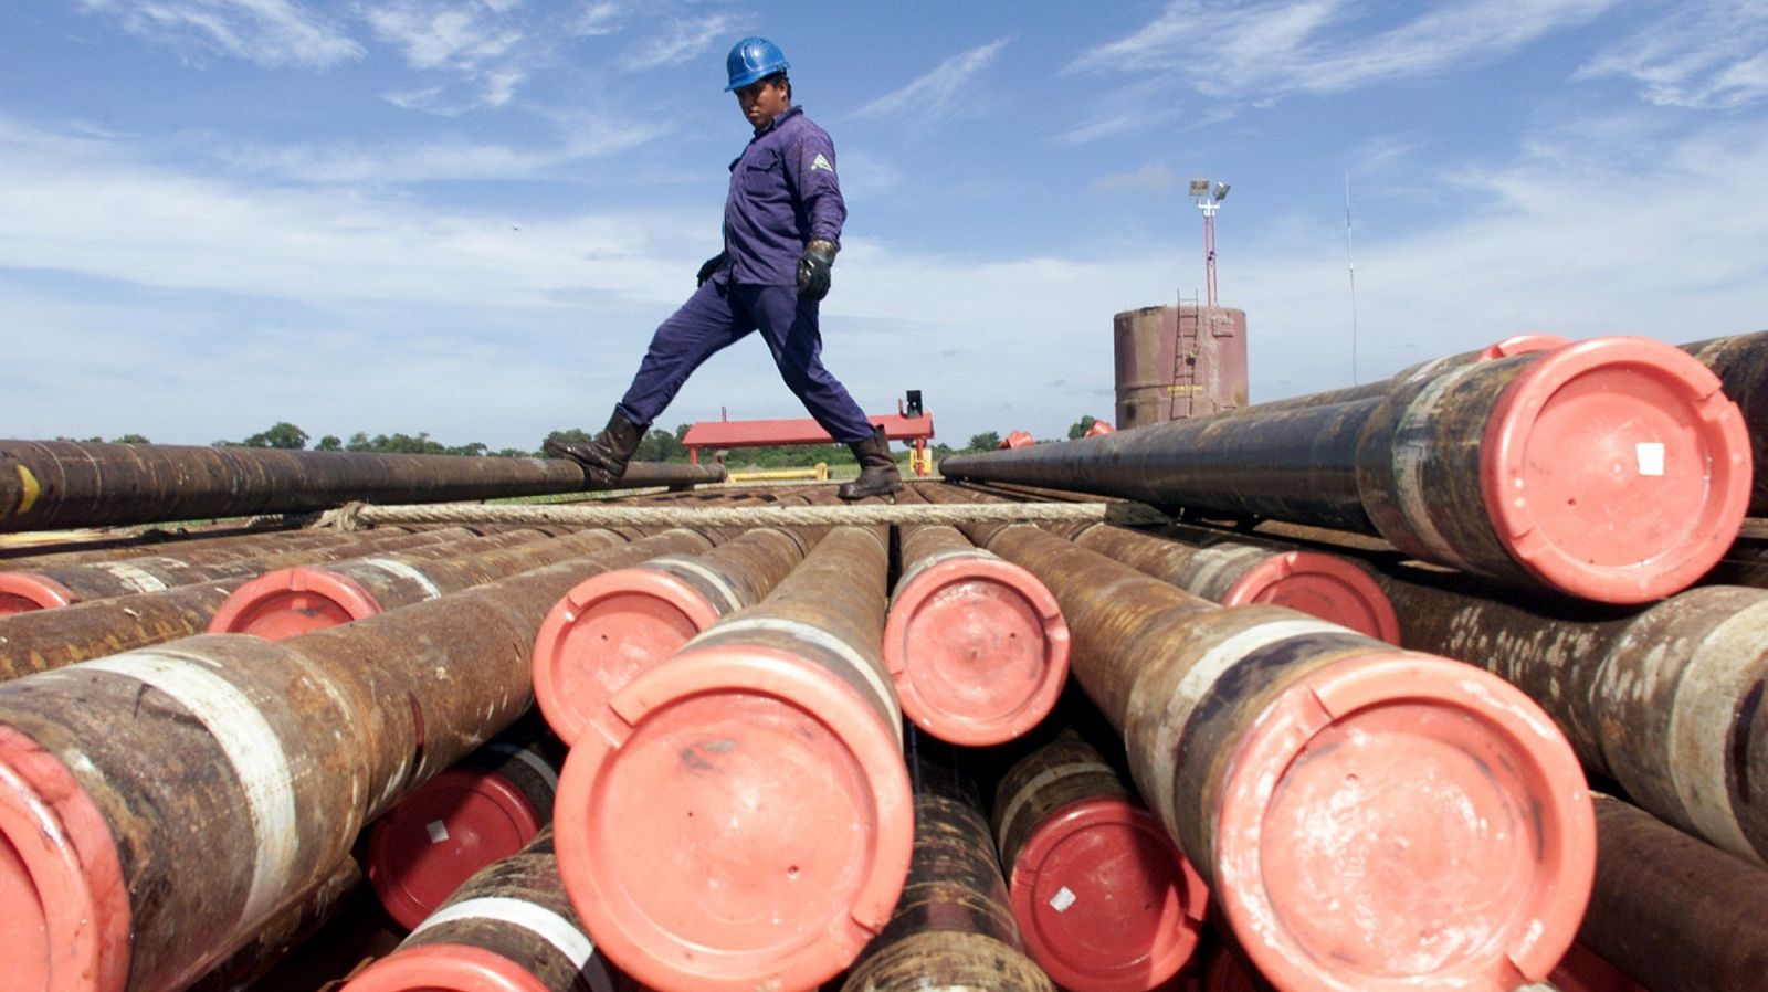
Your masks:
M 364 870 L 400 927 L 415 928 L 479 868 L 552 822 L 564 746 L 536 713 L 492 737 L 368 826 Z

